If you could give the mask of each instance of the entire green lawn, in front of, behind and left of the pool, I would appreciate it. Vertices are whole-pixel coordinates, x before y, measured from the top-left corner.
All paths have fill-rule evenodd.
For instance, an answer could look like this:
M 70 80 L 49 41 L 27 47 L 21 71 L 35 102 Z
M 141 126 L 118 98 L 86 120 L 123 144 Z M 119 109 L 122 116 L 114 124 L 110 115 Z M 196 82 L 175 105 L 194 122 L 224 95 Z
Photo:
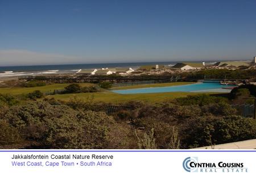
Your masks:
M 125 87 L 115 87 L 113 89 L 127 89 L 127 88 L 143 88 L 143 87 L 164 87 L 164 86 L 177 86 L 177 85 L 186 85 L 194 82 L 173 82 L 173 83 L 156 83 L 149 85 L 135 85 L 135 86 L 125 86 Z M 19 88 L 0 88 L 1 94 L 28 94 L 29 92 L 40 90 L 42 92 L 53 91 L 63 89 L 67 87 L 70 83 L 55 83 L 52 85 L 42 86 L 42 87 L 19 87 Z M 82 87 L 85 86 L 93 86 L 93 83 L 80 83 Z M 127 102 L 131 100 L 143 100 L 150 103 L 156 102 L 165 102 L 166 100 L 185 97 L 187 95 L 197 95 L 200 93 L 192 93 L 192 92 L 163 92 L 163 93 L 152 93 L 152 94 L 117 94 L 111 91 L 102 91 L 102 92 L 94 92 L 94 93 L 80 93 L 80 94 L 57 94 L 57 95 L 49 95 L 47 98 L 55 98 L 57 100 L 69 100 L 72 98 L 79 99 L 88 99 L 89 97 L 93 97 L 94 102 L 105 102 L 105 103 L 121 103 Z M 208 93 L 212 94 L 212 93 Z

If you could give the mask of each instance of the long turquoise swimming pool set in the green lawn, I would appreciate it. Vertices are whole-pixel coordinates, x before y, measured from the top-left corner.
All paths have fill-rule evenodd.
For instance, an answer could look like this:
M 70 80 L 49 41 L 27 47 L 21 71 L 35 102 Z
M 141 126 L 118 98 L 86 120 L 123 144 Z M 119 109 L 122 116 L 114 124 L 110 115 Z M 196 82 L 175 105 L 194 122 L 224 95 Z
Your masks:
M 159 92 L 230 92 L 231 89 L 225 89 L 233 86 L 225 86 L 220 83 L 193 83 L 182 86 L 169 87 L 149 87 L 149 88 L 135 88 L 126 90 L 112 90 L 118 94 L 148 94 Z

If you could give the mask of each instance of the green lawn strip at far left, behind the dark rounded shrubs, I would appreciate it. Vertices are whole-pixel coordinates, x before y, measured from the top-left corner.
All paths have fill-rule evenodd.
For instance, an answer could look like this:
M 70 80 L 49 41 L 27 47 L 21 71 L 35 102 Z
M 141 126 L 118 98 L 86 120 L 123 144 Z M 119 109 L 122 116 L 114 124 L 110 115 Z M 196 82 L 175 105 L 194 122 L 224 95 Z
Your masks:
M 12 95 L 19 95 L 19 94 L 28 94 L 29 92 L 40 90 L 42 92 L 47 91 L 54 91 L 63 89 L 70 85 L 70 83 L 55 83 L 52 85 L 42 86 L 42 87 L 17 87 L 17 88 L 0 88 L 0 94 L 12 94 Z M 79 83 L 80 86 L 93 86 L 93 83 Z

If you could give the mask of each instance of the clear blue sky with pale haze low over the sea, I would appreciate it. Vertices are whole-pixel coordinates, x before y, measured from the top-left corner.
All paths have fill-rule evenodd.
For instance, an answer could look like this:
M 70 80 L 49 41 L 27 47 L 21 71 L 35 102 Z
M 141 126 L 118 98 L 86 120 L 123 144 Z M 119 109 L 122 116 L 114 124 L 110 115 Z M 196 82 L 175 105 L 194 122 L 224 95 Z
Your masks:
M 2 66 L 255 55 L 255 0 L 0 0 Z

